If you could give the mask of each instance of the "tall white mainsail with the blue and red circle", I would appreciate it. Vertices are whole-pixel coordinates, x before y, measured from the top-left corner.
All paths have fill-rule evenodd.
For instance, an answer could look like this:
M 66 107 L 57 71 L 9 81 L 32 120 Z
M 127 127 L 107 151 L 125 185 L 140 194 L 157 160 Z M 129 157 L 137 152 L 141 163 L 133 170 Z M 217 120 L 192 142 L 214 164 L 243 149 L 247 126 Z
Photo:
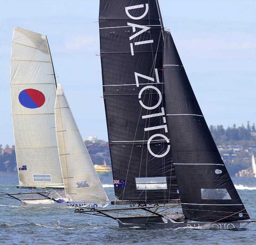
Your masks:
M 63 187 L 55 134 L 55 94 L 46 36 L 14 27 L 11 97 L 20 186 Z

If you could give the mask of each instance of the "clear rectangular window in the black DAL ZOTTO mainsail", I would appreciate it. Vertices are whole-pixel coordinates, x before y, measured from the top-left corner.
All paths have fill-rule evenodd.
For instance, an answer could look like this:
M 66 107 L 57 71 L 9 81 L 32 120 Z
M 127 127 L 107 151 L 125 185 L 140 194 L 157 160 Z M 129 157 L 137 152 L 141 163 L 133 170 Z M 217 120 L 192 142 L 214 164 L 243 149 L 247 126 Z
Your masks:
M 137 190 L 167 189 L 166 177 L 135 178 Z

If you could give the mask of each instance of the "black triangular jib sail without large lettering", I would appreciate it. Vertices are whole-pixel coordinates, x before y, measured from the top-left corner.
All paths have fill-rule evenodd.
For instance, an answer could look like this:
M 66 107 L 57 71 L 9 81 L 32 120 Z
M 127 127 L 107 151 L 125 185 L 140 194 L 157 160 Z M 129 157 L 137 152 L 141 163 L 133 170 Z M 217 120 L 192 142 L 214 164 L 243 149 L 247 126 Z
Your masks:
M 183 213 L 196 221 L 248 219 L 221 159 L 170 32 L 164 32 L 168 131 Z

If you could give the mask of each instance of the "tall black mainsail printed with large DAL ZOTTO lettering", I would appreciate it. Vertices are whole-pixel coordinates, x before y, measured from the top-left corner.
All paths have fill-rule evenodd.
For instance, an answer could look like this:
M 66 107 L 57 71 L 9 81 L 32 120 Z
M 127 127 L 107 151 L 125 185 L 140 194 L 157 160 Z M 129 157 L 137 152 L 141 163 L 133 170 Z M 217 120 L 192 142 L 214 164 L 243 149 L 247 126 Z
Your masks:
M 155 0 L 100 0 L 100 57 L 116 200 L 178 199 Z M 116 202 L 116 204 L 119 204 Z

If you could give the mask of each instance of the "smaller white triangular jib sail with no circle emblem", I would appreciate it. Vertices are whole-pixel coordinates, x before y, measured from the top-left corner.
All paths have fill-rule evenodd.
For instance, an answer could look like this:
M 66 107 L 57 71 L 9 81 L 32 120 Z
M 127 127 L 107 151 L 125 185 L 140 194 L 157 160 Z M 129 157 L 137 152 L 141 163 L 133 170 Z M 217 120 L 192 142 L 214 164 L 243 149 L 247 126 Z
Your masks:
M 55 124 L 66 194 L 72 201 L 108 202 L 60 83 L 57 85 Z

